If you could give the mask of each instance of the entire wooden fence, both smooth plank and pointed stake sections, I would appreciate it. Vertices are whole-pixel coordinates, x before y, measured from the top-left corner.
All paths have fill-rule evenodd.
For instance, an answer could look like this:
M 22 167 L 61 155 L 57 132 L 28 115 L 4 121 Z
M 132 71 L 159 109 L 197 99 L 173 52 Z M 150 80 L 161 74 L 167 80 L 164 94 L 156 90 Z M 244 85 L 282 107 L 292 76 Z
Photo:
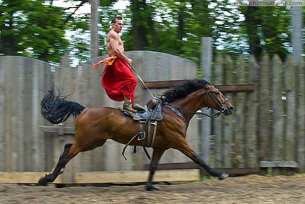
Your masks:
M 135 68 L 145 82 L 185 80 L 196 77 L 197 65 L 169 54 L 132 51 Z M 121 106 L 110 100 L 101 87 L 101 66 L 91 65 L 101 56 L 77 67 L 70 67 L 67 56 L 55 67 L 25 57 L 0 57 L 0 172 L 48 172 L 57 162 L 65 143 L 73 141 L 72 119 L 51 125 L 40 116 L 40 100 L 51 82 L 85 107 Z M 212 119 L 211 132 L 202 135 L 206 118 L 192 119 L 187 139 L 193 149 L 203 154 L 206 163 L 216 168 L 256 167 L 260 161 L 296 161 L 300 172 L 305 168 L 305 67 L 288 57 L 285 62 L 275 55 L 260 62 L 217 55 L 211 73 L 212 84 L 223 91 L 234 106 L 234 114 Z M 204 78 L 204 73 L 203 73 Z M 148 83 L 149 84 L 149 83 Z M 228 91 L 220 85 L 249 85 L 249 90 Z M 237 87 L 237 86 L 236 86 Z M 160 95 L 165 88 L 152 88 Z M 135 91 L 137 103 L 149 99 L 140 85 Z M 205 111 L 205 110 L 202 110 Z M 50 127 L 51 126 L 51 127 Z M 54 133 L 52 133 L 54 132 Z M 203 144 L 202 141 L 204 142 Z M 142 171 L 149 163 L 141 148 L 137 154 L 130 147 L 128 161 L 121 156 L 124 145 L 107 141 L 102 148 L 80 153 L 60 177 L 62 183 L 75 182 L 75 173 Z M 203 148 L 202 148 L 203 147 Z M 149 149 L 149 153 L 151 150 Z M 176 150 L 168 150 L 160 163 L 190 162 Z M 37 177 L 37 175 L 35 174 Z M 2 182 L 0 180 L 0 182 Z M 97 181 L 98 182 L 98 181 Z

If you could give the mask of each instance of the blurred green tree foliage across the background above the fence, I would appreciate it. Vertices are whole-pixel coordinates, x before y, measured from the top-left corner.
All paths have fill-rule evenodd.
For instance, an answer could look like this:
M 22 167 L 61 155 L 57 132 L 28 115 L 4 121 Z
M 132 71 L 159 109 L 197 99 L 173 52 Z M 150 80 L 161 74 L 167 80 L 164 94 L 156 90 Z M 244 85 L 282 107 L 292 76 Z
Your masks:
M 75 13 L 90 1 L 65 2 L 73 6 L 0 0 L 0 53 L 58 62 L 69 52 L 80 61 L 88 59 L 90 14 Z M 214 52 L 233 57 L 254 54 L 259 59 L 265 52 L 284 59 L 291 50 L 289 7 L 233 7 L 228 0 L 130 0 L 126 9 L 117 10 L 117 2 L 100 1 L 100 54 L 106 54 L 105 38 L 116 15 L 124 19 L 126 51 L 160 51 L 199 63 L 202 37 L 214 39 Z

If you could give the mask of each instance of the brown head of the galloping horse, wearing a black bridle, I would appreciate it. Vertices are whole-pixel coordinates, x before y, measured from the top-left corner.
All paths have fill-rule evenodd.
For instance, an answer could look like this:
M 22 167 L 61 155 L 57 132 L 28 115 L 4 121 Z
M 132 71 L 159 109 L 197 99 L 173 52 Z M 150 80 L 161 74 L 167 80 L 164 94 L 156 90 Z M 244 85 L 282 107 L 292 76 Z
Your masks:
M 207 107 L 223 112 L 226 116 L 233 113 L 234 107 L 228 98 L 212 85 L 204 87 L 207 97 Z

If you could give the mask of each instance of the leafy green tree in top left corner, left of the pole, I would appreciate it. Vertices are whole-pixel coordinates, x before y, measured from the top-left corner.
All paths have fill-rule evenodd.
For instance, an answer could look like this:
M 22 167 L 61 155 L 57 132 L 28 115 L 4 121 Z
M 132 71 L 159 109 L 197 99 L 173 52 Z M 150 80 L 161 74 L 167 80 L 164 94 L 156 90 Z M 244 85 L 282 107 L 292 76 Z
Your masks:
M 68 46 L 67 14 L 47 1 L 3 0 L 0 3 L 0 52 L 58 61 Z

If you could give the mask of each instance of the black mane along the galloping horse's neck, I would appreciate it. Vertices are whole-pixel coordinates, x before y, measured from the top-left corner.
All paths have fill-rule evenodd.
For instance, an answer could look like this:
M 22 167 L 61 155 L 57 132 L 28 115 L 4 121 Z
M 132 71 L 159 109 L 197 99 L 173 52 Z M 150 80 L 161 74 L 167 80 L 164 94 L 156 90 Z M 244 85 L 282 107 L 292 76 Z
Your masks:
M 186 97 L 187 95 L 189 95 L 194 91 L 203 89 L 206 85 L 211 85 L 211 84 L 203 79 L 187 80 L 182 85 L 170 89 L 168 91 L 165 91 L 161 95 L 161 99 L 164 102 L 171 103 L 176 99 Z

